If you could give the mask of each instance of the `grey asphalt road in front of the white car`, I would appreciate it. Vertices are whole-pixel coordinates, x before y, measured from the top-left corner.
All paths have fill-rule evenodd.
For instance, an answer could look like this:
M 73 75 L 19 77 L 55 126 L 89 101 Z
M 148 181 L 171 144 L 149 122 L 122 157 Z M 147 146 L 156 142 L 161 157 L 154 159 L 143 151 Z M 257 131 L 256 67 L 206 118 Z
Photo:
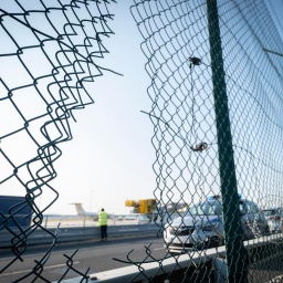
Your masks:
M 90 274 L 107 271 L 112 269 L 118 269 L 128 266 L 125 263 L 113 260 L 113 258 L 126 260 L 129 251 L 130 259 L 134 261 L 143 261 L 146 259 L 146 248 L 151 243 L 151 255 L 156 259 L 164 258 L 166 250 L 163 247 L 163 240 L 156 239 L 156 237 L 146 237 L 139 239 L 120 239 L 109 240 L 107 242 L 88 242 L 88 243 L 73 243 L 57 245 L 48 262 L 45 263 L 43 277 L 50 282 L 57 281 L 62 274 L 66 271 L 66 258 L 63 254 L 72 255 L 76 249 L 80 249 L 75 254 L 74 268 L 80 272 L 86 272 L 90 266 Z M 32 282 L 33 276 L 30 276 L 22 281 L 17 281 L 23 275 L 28 274 L 30 270 L 35 265 L 34 260 L 41 260 L 44 256 L 49 247 L 31 247 L 29 252 L 23 258 L 23 262 L 18 260 L 9 269 L 0 274 L 0 283 L 7 282 Z M 0 250 L 0 269 L 11 262 L 14 256 L 11 256 L 9 250 Z M 65 279 L 77 277 L 74 271 L 70 271 Z M 45 282 L 43 280 L 36 280 L 38 282 Z

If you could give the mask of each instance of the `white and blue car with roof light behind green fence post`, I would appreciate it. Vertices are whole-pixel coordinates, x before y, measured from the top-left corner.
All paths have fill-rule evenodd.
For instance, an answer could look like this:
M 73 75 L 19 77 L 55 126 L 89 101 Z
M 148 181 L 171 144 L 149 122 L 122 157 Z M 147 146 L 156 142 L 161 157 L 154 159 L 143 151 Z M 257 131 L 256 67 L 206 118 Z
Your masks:
M 244 240 L 270 233 L 268 220 L 254 202 L 240 198 L 239 205 Z M 191 207 L 185 217 L 167 223 L 164 241 L 169 251 L 222 245 L 223 218 L 220 197 L 209 197 Z

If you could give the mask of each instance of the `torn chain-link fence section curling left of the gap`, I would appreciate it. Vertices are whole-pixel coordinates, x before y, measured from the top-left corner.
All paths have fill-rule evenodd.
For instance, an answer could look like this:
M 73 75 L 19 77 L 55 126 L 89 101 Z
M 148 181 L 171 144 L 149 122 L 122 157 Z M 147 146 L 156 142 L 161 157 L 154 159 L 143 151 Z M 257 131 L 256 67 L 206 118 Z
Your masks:
M 51 244 L 34 268 L 15 282 L 50 282 L 43 271 L 57 234 L 45 229 L 42 220 L 59 198 L 50 182 L 56 177 L 60 144 L 73 138 L 74 111 L 94 102 L 87 83 L 111 71 L 99 60 L 108 52 L 103 39 L 113 34 L 112 3 L 115 0 L 0 3 L 0 186 L 4 195 L 13 188 L 25 196 L 8 212 L 0 208 L 0 237 L 9 231 L 13 254 L 9 264 L 0 266 L 0 273 L 23 261 L 34 230 L 43 230 Z M 39 198 L 46 192 L 53 197 L 40 208 Z M 82 275 L 81 282 L 87 282 L 88 270 L 81 273 L 73 266 L 75 253 L 65 255 L 67 269 L 60 281 L 72 270 Z

